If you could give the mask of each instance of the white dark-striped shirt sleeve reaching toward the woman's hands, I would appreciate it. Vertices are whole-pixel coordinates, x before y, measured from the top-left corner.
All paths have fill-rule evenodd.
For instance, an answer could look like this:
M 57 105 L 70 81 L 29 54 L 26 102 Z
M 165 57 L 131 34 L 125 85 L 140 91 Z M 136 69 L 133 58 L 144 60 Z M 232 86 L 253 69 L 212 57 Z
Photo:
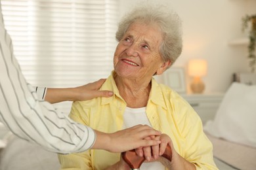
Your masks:
M 91 127 L 77 124 L 50 103 L 38 99 L 35 88 L 26 82 L 4 27 L 1 3 L 0 122 L 14 135 L 61 154 L 88 150 L 96 139 Z

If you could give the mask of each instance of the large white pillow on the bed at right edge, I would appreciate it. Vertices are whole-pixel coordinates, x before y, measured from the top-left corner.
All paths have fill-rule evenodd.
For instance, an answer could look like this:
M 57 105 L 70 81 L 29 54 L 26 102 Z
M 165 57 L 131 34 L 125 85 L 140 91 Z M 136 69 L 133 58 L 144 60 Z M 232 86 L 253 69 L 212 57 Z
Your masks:
M 256 86 L 233 82 L 214 120 L 204 130 L 215 137 L 256 147 Z

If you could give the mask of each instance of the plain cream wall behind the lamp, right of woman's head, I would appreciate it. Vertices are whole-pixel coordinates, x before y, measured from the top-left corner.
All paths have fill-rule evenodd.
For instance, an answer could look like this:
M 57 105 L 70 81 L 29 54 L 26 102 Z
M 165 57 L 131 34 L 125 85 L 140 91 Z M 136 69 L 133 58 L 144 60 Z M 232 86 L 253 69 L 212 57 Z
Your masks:
M 121 0 L 121 14 L 137 1 Z M 247 45 L 232 46 L 228 42 L 246 37 L 241 31 L 241 18 L 245 14 L 256 14 L 255 0 L 169 0 L 169 3 L 183 25 L 183 50 L 173 66 L 184 67 L 186 71 L 188 59 L 206 59 L 205 93 L 225 92 L 232 82 L 232 73 L 249 72 Z M 186 82 L 190 80 L 186 76 Z

